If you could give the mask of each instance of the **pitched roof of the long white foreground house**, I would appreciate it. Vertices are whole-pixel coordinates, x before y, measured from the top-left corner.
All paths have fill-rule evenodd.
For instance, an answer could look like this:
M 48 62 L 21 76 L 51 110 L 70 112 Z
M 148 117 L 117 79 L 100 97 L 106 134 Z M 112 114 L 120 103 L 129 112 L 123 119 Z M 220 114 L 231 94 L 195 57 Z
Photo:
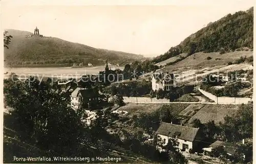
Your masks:
M 162 122 L 159 128 L 157 129 L 156 133 L 169 137 L 177 136 L 179 139 L 193 142 L 197 135 L 198 130 L 199 128 L 191 128 L 187 126 Z

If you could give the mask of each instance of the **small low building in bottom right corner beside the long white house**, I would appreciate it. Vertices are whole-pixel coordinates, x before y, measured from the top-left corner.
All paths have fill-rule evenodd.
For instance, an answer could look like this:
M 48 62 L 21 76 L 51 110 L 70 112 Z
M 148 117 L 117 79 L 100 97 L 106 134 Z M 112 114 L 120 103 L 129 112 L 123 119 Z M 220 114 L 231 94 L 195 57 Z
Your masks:
M 227 152 L 229 158 L 234 154 L 234 148 L 236 147 L 236 144 L 233 143 L 225 143 L 220 140 L 217 140 L 216 142 L 209 145 L 208 148 L 203 148 L 204 156 L 211 157 L 210 152 L 213 148 L 223 147 L 223 149 Z

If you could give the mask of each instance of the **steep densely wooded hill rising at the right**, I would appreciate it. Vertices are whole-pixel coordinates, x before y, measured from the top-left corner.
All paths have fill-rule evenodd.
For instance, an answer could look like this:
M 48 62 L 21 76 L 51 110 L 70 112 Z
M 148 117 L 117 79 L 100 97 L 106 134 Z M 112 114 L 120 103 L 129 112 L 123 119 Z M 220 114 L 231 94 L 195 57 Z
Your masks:
M 164 55 L 154 58 L 153 62 L 158 63 L 181 53 L 226 53 L 242 48 L 253 49 L 253 7 L 210 22 L 179 45 L 170 48 Z

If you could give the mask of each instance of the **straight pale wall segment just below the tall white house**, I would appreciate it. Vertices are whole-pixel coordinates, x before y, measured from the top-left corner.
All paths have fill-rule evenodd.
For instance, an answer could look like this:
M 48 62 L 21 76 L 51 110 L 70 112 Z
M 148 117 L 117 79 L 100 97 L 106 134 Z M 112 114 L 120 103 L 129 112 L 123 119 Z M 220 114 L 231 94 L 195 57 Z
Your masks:
M 168 99 L 144 98 L 144 97 L 123 97 L 124 103 L 168 103 Z

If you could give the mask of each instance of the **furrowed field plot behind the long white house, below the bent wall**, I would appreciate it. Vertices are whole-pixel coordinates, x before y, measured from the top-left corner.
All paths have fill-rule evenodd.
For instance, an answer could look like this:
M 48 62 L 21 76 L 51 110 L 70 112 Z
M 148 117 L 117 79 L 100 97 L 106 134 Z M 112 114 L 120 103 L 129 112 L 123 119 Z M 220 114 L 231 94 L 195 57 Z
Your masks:
M 206 104 L 188 121 L 188 125 L 195 119 L 199 119 L 201 123 L 215 121 L 216 124 L 224 121 L 226 115 L 231 115 L 237 111 L 238 105 L 219 105 Z

